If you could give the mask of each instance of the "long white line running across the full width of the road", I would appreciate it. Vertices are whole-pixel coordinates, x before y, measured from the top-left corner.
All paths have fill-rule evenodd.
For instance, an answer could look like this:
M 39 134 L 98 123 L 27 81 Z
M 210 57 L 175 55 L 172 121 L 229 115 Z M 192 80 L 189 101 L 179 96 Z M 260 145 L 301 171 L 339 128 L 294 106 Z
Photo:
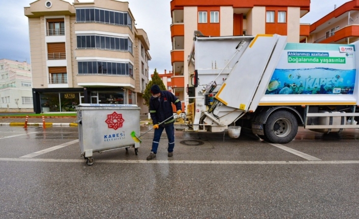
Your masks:
M 0 158 L 0 161 L 86 163 L 83 159 L 27 159 Z M 115 164 L 359 164 L 359 161 L 146 161 L 146 160 L 96 160 L 95 163 Z

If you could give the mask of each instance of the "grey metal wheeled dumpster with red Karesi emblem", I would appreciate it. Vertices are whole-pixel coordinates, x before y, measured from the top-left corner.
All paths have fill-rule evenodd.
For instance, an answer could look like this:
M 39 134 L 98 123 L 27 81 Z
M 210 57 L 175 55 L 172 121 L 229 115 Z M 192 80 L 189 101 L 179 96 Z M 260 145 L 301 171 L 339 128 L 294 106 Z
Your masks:
M 76 107 L 81 156 L 94 163 L 93 152 L 134 147 L 140 143 L 131 132 L 140 133 L 140 107 L 124 104 L 80 104 Z

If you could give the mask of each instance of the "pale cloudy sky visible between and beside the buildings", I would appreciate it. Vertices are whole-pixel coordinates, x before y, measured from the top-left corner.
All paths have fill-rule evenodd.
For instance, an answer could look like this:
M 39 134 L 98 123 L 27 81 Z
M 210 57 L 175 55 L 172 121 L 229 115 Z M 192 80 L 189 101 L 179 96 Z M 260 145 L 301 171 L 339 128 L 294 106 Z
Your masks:
M 65 0 L 66 1 L 66 0 Z M 195 0 L 192 0 L 195 1 Z M 0 0 L 0 59 L 31 62 L 27 17 L 24 7 L 35 0 Z M 72 2 L 72 0 L 68 0 Z M 81 2 L 81 0 L 80 0 Z M 149 61 L 149 73 L 155 68 L 158 73 L 172 70 L 170 35 L 170 0 L 128 0 L 135 17 L 137 28 L 148 35 L 152 60 Z M 301 23 L 314 23 L 326 14 L 350 0 L 311 0 L 310 12 L 301 18 Z

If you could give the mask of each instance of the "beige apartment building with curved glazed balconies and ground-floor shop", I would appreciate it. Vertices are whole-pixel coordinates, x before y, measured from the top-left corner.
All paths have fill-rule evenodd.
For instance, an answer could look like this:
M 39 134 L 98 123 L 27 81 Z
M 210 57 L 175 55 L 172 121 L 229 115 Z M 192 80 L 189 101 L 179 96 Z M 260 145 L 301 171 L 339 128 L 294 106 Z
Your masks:
M 75 111 L 80 103 L 137 104 L 148 112 L 149 41 L 128 2 L 38 0 L 24 14 L 36 113 Z

